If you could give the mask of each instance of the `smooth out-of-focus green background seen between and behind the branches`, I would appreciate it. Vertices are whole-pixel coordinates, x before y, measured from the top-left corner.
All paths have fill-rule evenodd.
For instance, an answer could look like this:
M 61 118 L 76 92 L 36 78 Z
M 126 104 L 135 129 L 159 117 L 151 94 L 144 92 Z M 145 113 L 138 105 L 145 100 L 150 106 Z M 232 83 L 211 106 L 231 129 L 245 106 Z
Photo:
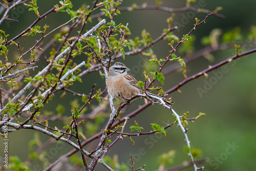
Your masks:
M 197 1 L 191 6 L 198 5 Z M 224 32 L 231 31 L 236 27 L 241 29 L 241 34 L 246 37 L 250 31 L 250 27 L 255 25 L 255 7 L 256 1 L 249 0 L 233 0 L 233 1 L 210 1 L 205 0 L 204 9 L 215 10 L 216 7 L 221 6 L 223 10 L 220 12 L 225 15 L 225 19 L 217 18 L 215 16 L 210 16 L 204 25 L 200 25 L 192 35 L 193 40 L 195 40 L 196 50 L 200 50 L 205 46 L 201 44 L 201 38 L 208 36 L 212 29 L 219 28 Z M 73 10 L 78 9 L 84 2 L 83 1 L 72 1 Z M 90 1 L 91 3 L 91 1 Z M 91 5 L 88 1 L 88 4 Z M 154 5 L 155 1 L 123 1 L 121 6 L 131 6 L 131 4 L 136 3 L 137 5 L 142 5 L 147 3 L 148 5 Z M 38 1 L 39 12 L 45 13 L 46 11 L 53 8 L 58 1 Z M 88 5 L 87 4 L 87 5 Z M 161 6 L 166 6 L 169 8 L 182 8 L 185 7 L 185 1 L 163 1 Z M 195 17 L 203 20 L 206 14 L 194 13 Z M 24 29 L 26 29 L 35 19 L 36 16 L 32 11 L 27 11 L 20 9 L 20 12 L 15 14 L 11 12 L 11 15 L 16 16 L 18 23 L 8 21 L 4 22 L 0 27 L 2 30 L 6 31 L 6 34 L 10 34 L 10 37 L 14 37 Z M 176 13 L 174 21 L 180 22 L 182 16 L 187 15 L 187 12 Z M 132 12 L 121 12 L 121 15 L 115 17 L 116 23 L 122 23 L 125 25 L 129 23 L 129 29 L 132 35 L 129 37 L 131 39 L 136 36 L 141 36 L 141 31 L 146 29 L 147 32 L 151 33 L 153 39 L 157 38 L 164 28 L 167 27 L 166 18 L 171 16 L 170 13 L 157 11 L 157 10 L 143 10 L 143 11 L 132 11 Z M 195 18 L 194 17 L 194 18 Z M 102 17 L 104 18 L 104 16 Z M 191 28 L 194 27 L 195 19 L 189 19 L 189 22 L 180 28 L 179 32 L 174 31 L 174 34 L 178 37 L 182 37 L 183 34 L 188 33 Z M 50 30 L 56 28 L 62 23 L 68 21 L 70 16 L 66 13 L 51 13 L 46 19 L 42 19 L 39 24 L 44 26 L 45 23 L 50 26 Z M 109 21 L 109 19 L 107 19 Z M 91 29 L 97 23 L 93 20 L 93 23 L 89 23 L 86 30 Z M 76 33 L 73 33 L 74 35 Z M 38 36 L 39 37 L 39 36 Z M 23 46 L 29 48 L 35 43 L 38 37 L 20 38 L 19 42 Z M 46 38 L 44 41 L 48 41 L 50 38 Z M 29 41 L 28 41 L 29 40 Z M 246 39 L 244 39 L 246 41 Z M 161 41 L 153 46 L 153 51 L 157 55 L 157 58 L 165 58 L 169 54 L 170 47 L 168 41 Z M 252 48 L 254 45 L 252 46 Z M 13 49 L 12 49 L 13 48 Z M 9 54 L 17 53 L 15 47 L 10 47 Z M 247 49 L 248 50 L 248 49 Z M 187 63 L 187 76 L 196 74 L 197 72 L 206 69 L 208 65 L 214 65 L 220 61 L 227 59 L 228 57 L 234 55 L 234 47 L 231 46 L 228 50 L 221 50 L 215 53 L 214 61 L 208 61 L 207 59 L 200 57 Z M 177 56 L 185 56 L 185 54 L 176 54 Z M 11 55 L 9 55 L 11 56 Z M 49 56 L 49 52 L 45 52 L 44 56 Z M 201 149 L 202 156 L 198 156 L 196 159 L 208 158 L 209 162 L 204 163 L 205 170 L 255 170 L 254 160 L 256 147 L 256 58 L 255 54 L 247 55 L 242 57 L 232 63 L 227 64 L 227 72 L 221 72 L 221 77 L 217 77 L 215 74 L 221 71 L 218 70 L 208 73 L 208 79 L 205 77 L 200 77 L 198 80 L 193 80 L 181 87 L 182 93 L 174 92 L 169 96 L 172 96 L 175 104 L 173 108 L 178 112 L 178 114 L 183 114 L 189 111 L 188 117 L 195 117 L 199 112 L 206 113 L 206 116 L 195 120 L 195 123 L 188 124 L 188 137 L 191 141 L 191 145 L 195 149 Z M 2 58 L 2 57 L 0 57 Z M 75 61 L 77 63 L 86 60 L 86 57 L 77 57 Z M 137 66 L 139 62 L 145 61 L 145 57 L 142 55 L 128 56 L 118 61 L 125 63 L 129 68 Z M 38 68 L 44 68 L 46 65 L 44 59 L 40 60 L 40 66 Z M 85 68 L 83 68 L 85 69 Z M 215 73 L 215 74 L 214 74 Z M 143 80 L 143 68 L 139 68 L 138 71 L 134 71 L 133 76 L 137 80 Z M 167 90 L 184 79 L 181 72 L 174 71 L 165 77 L 165 84 L 163 86 L 164 90 Z M 215 81 L 211 84 L 211 87 L 206 93 L 199 94 L 198 88 L 204 88 L 206 82 Z M 89 80 L 89 81 L 88 81 Z M 83 83 L 77 82 L 71 89 L 76 90 L 79 93 L 90 92 L 90 89 L 94 83 L 97 84 L 96 88 L 104 89 L 104 80 L 101 79 L 98 73 L 88 75 L 82 78 Z M 156 84 L 155 86 L 161 86 Z M 84 92 L 84 91 L 87 92 Z M 60 93 L 55 94 L 56 99 Z M 55 104 L 48 104 L 47 110 L 55 111 L 55 107 L 58 104 L 63 106 L 70 106 L 70 101 L 74 100 L 74 96 L 67 94 L 65 99 L 55 100 Z M 70 101 L 69 101 L 70 100 Z M 135 101 L 131 106 L 129 106 L 126 111 L 121 113 L 121 116 L 128 114 L 129 112 L 135 110 L 138 105 L 142 105 L 143 100 Z M 92 102 L 92 105 L 98 105 L 98 102 Z M 70 111 L 69 107 L 66 108 L 65 112 L 68 114 Z M 129 127 L 134 125 L 134 120 L 139 123 L 139 126 L 143 127 L 145 132 L 150 131 L 151 123 L 157 123 L 161 126 L 165 126 L 165 123 L 172 123 L 174 121 L 173 116 L 167 109 L 163 109 L 162 106 L 153 105 L 144 110 L 142 113 L 136 117 L 129 120 L 125 131 L 130 132 Z M 102 128 L 104 124 L 102 124 Z M 29 134 L 29 133 L 31 134 Z M 184 134 L 181 132 L 177 125 L 168 128 L 166 131 L 166 137 L 160 134 L 156 135 L 145 135 L 139 137 L 133 137 L 135 145 L 132 145 L 129 138 L 124 138 L 119 140 L 109 152 L 109 156 L 113 157 L 118 154 L 118 160 L 120 163 L 129 164 L 131 155 L 134 156 L 134 168 L 144 167 L 145 170 L 156 170 L 159 167 L 157 162 L 157 156 L 162 153 L 166 153 L 170 150 L 175 150 L 174 163 L 167 164 L 166 167 L 172 167 L 182 164 L 183 161 L 189 161 L 189 157 L 185 152 L 186 142 L 184 141 Z M 30 130 L 19 130 L 14 133 L 9 134 L 9 155 L 17 155 L 23 161 L 27 160 L 28 152 L 28 139 L 34 137 L 34 131 Z M 40 133 L 39 137 L 44 142 L 48 139 L 47 136 Z M 98 143 L 98 140 L 95 141 Z M 55 144 L 54 144 L 55 145 Z M 53 146 L 54 146 L 53 145 Z M 3 144 L 0 144 L 0 149 L 2 149 Z M 88 148 L 90 146 L 87 146 Z M 141 149 L 143 148 L 143 149 Z M 48 148 L 50 150 L 51 147 Z M 72 150 L 71 146 L 65 145 L 65 148 L 58 151 L 53 158 L 49 159 L 50 162 L 54 162 L 59 156 L 66 154 Z M 2 155 L 2 151 L 0 154 Z M 80 156 L 80 154 L 77 154 Z M 104 170 L 101 165 L 97 165 L 95 170 Z M 184 170 L 193 170 L 193 168 L 187 168 Z

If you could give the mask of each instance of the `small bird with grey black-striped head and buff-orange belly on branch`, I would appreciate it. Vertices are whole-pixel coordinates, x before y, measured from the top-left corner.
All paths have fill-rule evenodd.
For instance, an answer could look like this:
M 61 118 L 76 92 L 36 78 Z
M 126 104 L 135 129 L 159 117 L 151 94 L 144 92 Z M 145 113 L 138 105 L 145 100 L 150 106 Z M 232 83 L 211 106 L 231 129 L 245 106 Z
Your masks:
M 106 80 L 110 95 L 123 102 L 141 91 L 140 86 L 137 85 L 138 81 L 127 74 L 129 70 L 131 69 L 123 63 L 116 62 L 109 68 L 108 79 Z

